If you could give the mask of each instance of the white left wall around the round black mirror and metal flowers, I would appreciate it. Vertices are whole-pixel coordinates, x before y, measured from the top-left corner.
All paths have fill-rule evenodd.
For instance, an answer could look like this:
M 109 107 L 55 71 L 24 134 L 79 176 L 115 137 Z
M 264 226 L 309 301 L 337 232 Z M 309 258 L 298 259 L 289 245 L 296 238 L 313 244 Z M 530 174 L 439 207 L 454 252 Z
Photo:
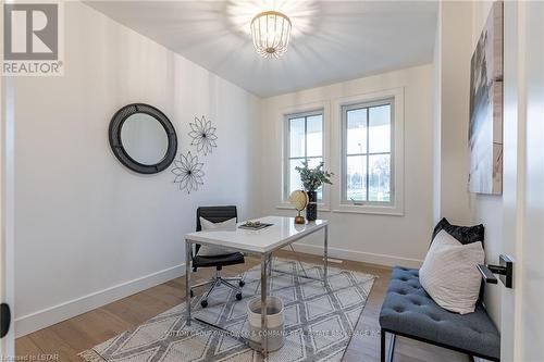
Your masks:
M 20 336 L 184 273 L 198 205 L 255 214 L 258 100 L 85 4 L 66 2 L 65 21 L 64 76 L 15 83 Z M 188 196 L 170 168 L 139 175 L 114 158 L 108 125 L 131 102 L 170 117 L 178 152 L 196 153 L 195 116 L 214 122 L 219 147 L 202 159 L 201 190 Z

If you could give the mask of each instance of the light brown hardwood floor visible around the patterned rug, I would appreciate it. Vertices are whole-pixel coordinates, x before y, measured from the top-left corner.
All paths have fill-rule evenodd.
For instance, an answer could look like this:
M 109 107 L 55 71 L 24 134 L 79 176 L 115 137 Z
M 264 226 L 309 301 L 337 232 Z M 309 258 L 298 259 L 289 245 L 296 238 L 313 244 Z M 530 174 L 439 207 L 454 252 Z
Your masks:
M 277 257 L 292 258 L 292 253 L 281 251 Z M 302 261 L 320 263 L 321 258 L 302 254 Z M 236 275 L 258 264 L 258 260 L 247 258 L 244 265 L 228 266 L 227 275 Z M 359 319 L 357 330 L 344 355 L 345 362 L 380 361 L 380 325 L 378 316 L 383 302 L 391 270 L 384 266 L 344 261 L 332 264 L 346 270 L 360 271 L 378 276 Z M 199 270 L 194 273 L 193 283 L 210 277 L 212 271 Z M 150 317 L 181 303 L 185 299 L 185 278 L 176 278 L 153 288 L 135 294 L 113 303 L 98 308 L 71 320 L 32 333 L 15 340 L 15 351 L 21 360 L 33 361 L 32 355 L 58 355 L 58 361 L 78 361 L 77 353 L 102 342 L 121 332 L 136 327 Z M 26 358 L 26 359 L 23 359 Z M 35 360 L 35 359 L 34 359 Z M 395 362 L 417 361 L 469 361 L 465 354 L 415 340 L 397 338 Z

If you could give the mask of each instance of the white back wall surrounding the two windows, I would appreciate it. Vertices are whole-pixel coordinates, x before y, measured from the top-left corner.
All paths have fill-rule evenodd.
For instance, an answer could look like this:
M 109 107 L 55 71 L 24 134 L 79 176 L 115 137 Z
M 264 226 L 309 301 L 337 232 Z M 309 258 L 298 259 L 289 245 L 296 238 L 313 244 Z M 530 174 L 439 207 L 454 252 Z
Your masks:
M 282 123 L 279 112 L 310 103 L 331 108 L 338 98 L 360 96 L 404 87 L 405 125 L 405 213 L 404 216 L 354 214 L 320 211 L 331 221 L 330 253 L 386 265 L 420 265 L 432 230 L 433 189 L 433 66 L 423 65 L 385 73 L 325 87 L 263 99 L 261 101 L 260 212 L 294 215 L 277 209 L 282 201 Z M 304 108 L 304 107 L 302 107 Z M 337 111 L 337 110 L 336 110 Z M 326 118 L 326 114 L 325 114 Z M 329 125 L 327 125 L 329 124 Z M 338 124 L 325 120 L 333 134 Z M 338 128 L 339 129 L 339 128 Z M 339 145 L 334 138 L 327 145 L 331 159 L 338 159 Z M 330 161 L 329 160 L 329 161 Z M 326 162 L 326 168 L 337 162 Z M 339 175 L 339 170 L 331 170 Z M 339 192 L 339 178 L 334 178 L 332 192 Z M 322 239 L 304 240 L 300 250 L 321 252 Z

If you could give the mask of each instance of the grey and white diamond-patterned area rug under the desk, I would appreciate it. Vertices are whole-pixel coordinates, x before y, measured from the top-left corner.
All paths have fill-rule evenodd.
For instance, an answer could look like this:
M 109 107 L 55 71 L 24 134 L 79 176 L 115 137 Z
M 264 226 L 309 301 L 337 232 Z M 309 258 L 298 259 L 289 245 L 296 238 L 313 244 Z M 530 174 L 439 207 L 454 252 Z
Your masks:
M 309 276 L 322 279 L 321 265 L 302 263 Z M 273 269 L 302 273 L 298 262 L 274 259 Z M 285 308 L 285 345 L 269 353 L 267 361 L 341 361 L 364 308 L 375 276 L 329 267 L 329 286 L 294 275 L 269 277 L 270 295 L 282 298 Z M 86 362 L 185 362 L 263 361 L 261 354 L 235 338 L 248 328 L 247 302 L 260 296 L 260 265 L 244 274 L 244 298 L 221 286 L 200 307 L 201 291 L 195 289 L 191 311 L 207 322 L 227 329 L 221 333 L 193 322 L 185 325 L 185 302 L 79 353 Z

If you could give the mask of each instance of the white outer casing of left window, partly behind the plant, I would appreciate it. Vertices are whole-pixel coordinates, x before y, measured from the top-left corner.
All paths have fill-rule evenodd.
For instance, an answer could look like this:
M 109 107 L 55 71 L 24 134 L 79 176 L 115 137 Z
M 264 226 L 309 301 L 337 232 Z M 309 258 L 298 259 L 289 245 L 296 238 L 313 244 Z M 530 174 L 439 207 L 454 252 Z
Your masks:
M 329 102 L 314 102 L 308 104 L 300 104 L 292 108 L 286 108 L 281 110 L 281 120 L 282 120 L 282 179 L 281 179 L 281 200 L 276 207 L 276 209 L 294 209 L 289 203 L 289 195 L 287 195 L 288 189 L 288 180 L 289 180 L 289 159 L 290 159 L 290 149 L 289 149 L 289 124 L 288 120 L 293 118 L 294 115 L 311 115 L 321 113 L 323 117 L 323 138 L 322 138 L 322 159 L 324 162 L 324 168 L 330 170 L 329 164 Z M 323 185 L 323 198 L 318 203 L 318 209 L 320 211 L 330 211 L 330 186 Z

